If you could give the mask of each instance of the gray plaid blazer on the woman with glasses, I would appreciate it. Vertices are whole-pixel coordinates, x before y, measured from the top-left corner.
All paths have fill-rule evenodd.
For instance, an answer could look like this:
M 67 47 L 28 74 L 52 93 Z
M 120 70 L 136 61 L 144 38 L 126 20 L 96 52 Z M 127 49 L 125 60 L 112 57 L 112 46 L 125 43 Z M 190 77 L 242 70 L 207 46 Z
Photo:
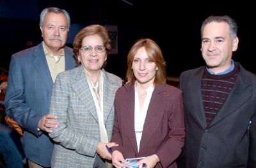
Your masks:
M 111 139 L 114 121 L 114 98 L 122 80 L 103 70 L 104 124 Z M 52 90 L 50 114 L 60 123 L 50 137 L 56 142 L 52 167 L 93 167 L 100 141 L 99 123 L 93 97 L 81 66 L 60 73 Z

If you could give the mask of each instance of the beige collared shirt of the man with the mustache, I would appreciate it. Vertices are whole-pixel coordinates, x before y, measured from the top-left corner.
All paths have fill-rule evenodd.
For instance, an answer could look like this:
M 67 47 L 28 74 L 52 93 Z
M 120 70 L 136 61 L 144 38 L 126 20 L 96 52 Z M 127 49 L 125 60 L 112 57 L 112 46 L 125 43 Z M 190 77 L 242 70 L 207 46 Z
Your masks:
M 62 54 L 60 56 L 54 56 L 51 52 L 47 50 L 45 47 L 45 43 L 43 42 L 43 49 L 44 49 L 44 54 L 46 57 L 47 65 L 49 67 L 51 77 L 52 77 L 52 82 L 55 82 L 55 79 L 57 75 L 60 72 L 65 71 L 65 53 L 64 49 L 62 49 Z

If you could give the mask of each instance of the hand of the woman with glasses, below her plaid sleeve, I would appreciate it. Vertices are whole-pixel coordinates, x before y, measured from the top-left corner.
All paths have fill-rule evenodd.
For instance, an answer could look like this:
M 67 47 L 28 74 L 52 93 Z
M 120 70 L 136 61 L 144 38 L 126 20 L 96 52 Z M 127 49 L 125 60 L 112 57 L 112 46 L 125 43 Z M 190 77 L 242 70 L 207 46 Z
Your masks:
M 98 153 L 98 155 L 101 158 L 111 160 L 112 155 L 111 153 L 108 152 L 108 149 L 106 148 L 106 146 L 108 146 L 108 148 L 112 148 L 113 146 L 118 146 L 118 144 L 116 144 L 115 142 L 111 142 L 111 143 L 99 142 L 97 146 L 96 153 Z

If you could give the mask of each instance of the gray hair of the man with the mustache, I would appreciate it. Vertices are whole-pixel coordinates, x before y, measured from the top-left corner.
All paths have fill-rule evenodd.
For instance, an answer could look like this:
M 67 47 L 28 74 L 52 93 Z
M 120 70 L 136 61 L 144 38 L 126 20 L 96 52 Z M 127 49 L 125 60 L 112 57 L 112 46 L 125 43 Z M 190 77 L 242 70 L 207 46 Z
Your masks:
M 65 17 L 67 18 L 68 21 L 68 31 L 69 31 L 69 27 L 70 27 L 70 16 L 69 13 L 65 10 L 61 10 L 60 8 L 55 8 L 55 7 L 49 7 L 49 8 L 45 8 L 44 10 L 42 10 L 41 14 L 40 14 L 40 27 L 42 28 L 44 26 L 44 19 L 45 19 L 45 15 L 47 13 L 63 13 L 65 15 Z

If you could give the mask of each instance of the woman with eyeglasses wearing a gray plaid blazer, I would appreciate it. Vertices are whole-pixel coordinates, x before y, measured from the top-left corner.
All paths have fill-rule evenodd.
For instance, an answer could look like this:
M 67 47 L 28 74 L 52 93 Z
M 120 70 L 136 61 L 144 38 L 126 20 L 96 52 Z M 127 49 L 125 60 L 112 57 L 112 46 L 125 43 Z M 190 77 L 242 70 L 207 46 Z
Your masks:
M 52 167 L 111 167 L 108 148 L 112 135 L 116 89 L 122 80 L 102 68 L 111 43 L 100 25 L 76 34 L 73 51 L 79 65 L 60 73 L 52 90 L 50 114 L 58 127 L 49 134 L 54 144 Z

